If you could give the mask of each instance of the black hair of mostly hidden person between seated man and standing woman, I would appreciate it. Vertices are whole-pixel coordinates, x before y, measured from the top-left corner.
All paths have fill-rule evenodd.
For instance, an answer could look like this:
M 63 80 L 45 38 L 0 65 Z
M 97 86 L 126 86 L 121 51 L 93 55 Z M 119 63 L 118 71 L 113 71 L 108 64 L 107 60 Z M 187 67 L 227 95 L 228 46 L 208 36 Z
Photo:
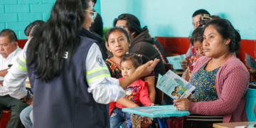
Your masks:
M 26 36 L 34 36 L 36 31 L 38 31 L 38 28 L 43 25 L 43 23 L 46 23 L 45 21 L 33 21 L 25 28 L 25 35 Z

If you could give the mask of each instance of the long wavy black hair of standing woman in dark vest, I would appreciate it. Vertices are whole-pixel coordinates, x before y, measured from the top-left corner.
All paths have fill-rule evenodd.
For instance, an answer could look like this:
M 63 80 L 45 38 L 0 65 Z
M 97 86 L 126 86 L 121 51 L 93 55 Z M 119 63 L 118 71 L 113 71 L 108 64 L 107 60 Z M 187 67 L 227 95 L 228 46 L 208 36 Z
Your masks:
M 68 62 L 80 44 L 85 9 L 90 0 L 57 0 L 50 18 L 39 28 L 31 39 L 27 50 L 27 65 L 33 65 L 38 78 L 42 81 L 60 75 L 63 68 L 63 55 L 68 51 Z

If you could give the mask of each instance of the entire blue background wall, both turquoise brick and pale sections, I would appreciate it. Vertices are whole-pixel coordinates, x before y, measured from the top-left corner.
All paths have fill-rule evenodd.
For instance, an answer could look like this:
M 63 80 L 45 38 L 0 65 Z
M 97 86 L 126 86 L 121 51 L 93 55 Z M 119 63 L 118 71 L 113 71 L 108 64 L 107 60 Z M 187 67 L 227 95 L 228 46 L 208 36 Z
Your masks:
M 0 0 L 0 30 L 11 28 L 19 39 L 24 29 L 36 20 L 47 21 L 55 0 Z M 97 0 L 95 10 L 101 14 L 105 27 L 112 27 L 120 14 L 134 14 L 152 36 L 188 37 L 192 14 L 206 9 L 212 15 L 227 18 L 242 39 L 256 40 L 256 0 Z

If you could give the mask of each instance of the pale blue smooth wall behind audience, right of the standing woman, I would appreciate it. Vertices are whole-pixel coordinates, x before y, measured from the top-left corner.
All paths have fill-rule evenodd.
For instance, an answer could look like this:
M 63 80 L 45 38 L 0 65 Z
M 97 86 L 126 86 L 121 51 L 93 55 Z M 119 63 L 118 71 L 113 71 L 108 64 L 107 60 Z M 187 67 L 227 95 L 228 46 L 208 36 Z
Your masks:
M 193 31 L 193 12 L 206 9 L 233 23 L 242 39 L 256 40 L 256 0 L 101 0 L 100 6 L 105 27 L 129 13 L 148 26 L 152 36 L 164 37 L 188 37 Z

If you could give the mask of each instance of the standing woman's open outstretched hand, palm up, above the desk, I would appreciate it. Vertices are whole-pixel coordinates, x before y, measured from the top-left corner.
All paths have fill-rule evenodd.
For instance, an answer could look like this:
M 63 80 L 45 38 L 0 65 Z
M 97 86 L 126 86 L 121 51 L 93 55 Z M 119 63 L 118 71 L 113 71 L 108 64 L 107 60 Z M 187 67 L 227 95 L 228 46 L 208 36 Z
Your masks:
M 142 78 L 146 75 L 149 75 L 152 70 L 156 67 L 156 64 L 159 63 L 159 59 L 155 58 L 154 61 L 150 60 L 144 65 L 139 66 L 135 71 L 134 75 L 137 75 L 138 78 Z

